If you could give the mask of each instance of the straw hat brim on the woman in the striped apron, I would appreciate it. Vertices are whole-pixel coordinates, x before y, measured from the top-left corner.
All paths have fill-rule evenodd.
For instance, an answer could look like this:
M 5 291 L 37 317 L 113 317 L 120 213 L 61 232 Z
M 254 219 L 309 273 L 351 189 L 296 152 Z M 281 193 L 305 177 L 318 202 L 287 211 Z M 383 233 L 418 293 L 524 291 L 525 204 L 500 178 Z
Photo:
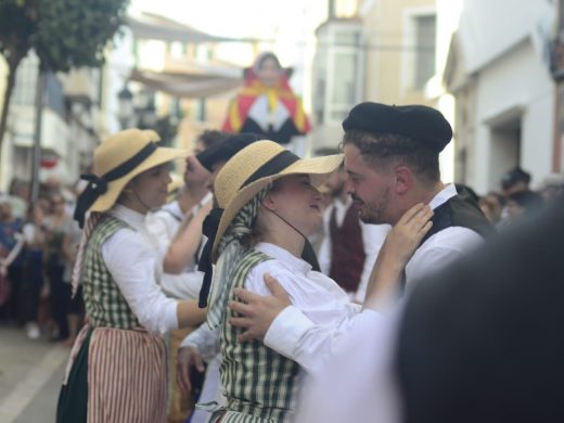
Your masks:
M 108 182 L 107 191 L 97 198 L 94 204 L 92 204 L 90 207 L 90 211 L 106 211 L 112 208 L 127 183 L 139 174 L 142 174 L 143 171 L 164 163 L 172 162 L 177 158 L 188 157 L 189 155 L 190 152 L 188 150 L 177 150 L 162 146 L 156 149 L 153 154 L 145 158 L 129 174 L 112 182 Z

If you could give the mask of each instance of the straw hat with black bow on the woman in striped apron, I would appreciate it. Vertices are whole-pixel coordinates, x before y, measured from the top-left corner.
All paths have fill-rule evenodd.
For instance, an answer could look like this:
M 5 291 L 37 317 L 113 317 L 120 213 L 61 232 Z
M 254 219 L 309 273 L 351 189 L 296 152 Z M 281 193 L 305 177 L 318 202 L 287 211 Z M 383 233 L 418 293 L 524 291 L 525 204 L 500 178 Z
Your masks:
M 89 184 L 78 198 L 75 219 L 81 222 L 87 210 L 108 210 L 136 176 L 188 156 L 188 151 L 158 146 L 159 140 L 155 131 L 140 129 L 126 129 L 104 140 L 94 151 L 93 174 L 81 176 Z

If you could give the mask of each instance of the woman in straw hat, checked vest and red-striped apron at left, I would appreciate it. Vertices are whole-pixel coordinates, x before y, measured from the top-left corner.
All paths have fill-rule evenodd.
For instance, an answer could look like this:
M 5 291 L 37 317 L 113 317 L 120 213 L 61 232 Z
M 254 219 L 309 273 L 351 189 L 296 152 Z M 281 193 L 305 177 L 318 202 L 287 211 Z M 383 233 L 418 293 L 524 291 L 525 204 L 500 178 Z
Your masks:
M 157 145 L 154 131 L 128 129 L 94 152 L 92 175 L 75 218 L 84 228 L 75 267 L 89 323 L 77 337 L 57 407 L 57 422 L 164 422 L 166 349 L 162 335 L 195 325 L 205 310 L 167 298 L 146 233 L 145 214 L 161 206 L 168 164 L 184 152 Z

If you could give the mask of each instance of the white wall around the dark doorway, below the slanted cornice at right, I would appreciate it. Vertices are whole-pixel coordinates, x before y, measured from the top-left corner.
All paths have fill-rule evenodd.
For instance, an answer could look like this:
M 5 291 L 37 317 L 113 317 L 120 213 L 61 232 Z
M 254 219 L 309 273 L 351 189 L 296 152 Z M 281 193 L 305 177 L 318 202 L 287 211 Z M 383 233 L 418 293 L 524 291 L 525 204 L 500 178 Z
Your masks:
M 521 112 L 518 112 L 521 111 Z M 529 38 L 480 69 L 476 93 L 475 159 L 469 183 L 478 192 L 499 189 L 502 163 L 491 163 L 490 127 L 521 113 L 521 166 L 533 181 L 550 172 L 554 86 Z

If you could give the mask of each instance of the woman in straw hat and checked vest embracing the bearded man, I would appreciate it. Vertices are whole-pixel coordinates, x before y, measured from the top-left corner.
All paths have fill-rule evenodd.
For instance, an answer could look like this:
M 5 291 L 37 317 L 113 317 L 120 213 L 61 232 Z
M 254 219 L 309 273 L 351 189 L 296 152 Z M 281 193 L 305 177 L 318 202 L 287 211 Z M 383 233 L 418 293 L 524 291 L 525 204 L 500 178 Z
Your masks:
M 317 323 L 336 324 L 358 312 L 358 306 L 349 303 L 333 280 L 312 271 L 300 258 L 307 235 L 321 225 L 321 195 L 315 187 L 341 162 L 341 155 L 299 159 L 275 142 L 258 141 L 233 156 L 217 176 L 219 207 L 204 223 L 213 245 L 211 261 L 217 261 L 207 320 L 220 332 L 227 406 L 215 411 L 213 422 L 291 421 L 299 385 L 296 362 L 258 341 L 238 342 L 242 330 L 231 324 L 235 315 L 228 308 L 229 299 L 234 299 L 233 290 L 245 287 L 266 295 L 264 277 L 270 273 L 282 283 L 294 306 Z M 420 215 L 412 240 L 408 240 L 411 242 L 401 244 L 410 252 L 430 228 L 425 225 L 430 211 Z M 388 261 L 381 262 L 376 281 L 399 279 L 409 255 L 403 249 L 395 254 L 388 245 Z

